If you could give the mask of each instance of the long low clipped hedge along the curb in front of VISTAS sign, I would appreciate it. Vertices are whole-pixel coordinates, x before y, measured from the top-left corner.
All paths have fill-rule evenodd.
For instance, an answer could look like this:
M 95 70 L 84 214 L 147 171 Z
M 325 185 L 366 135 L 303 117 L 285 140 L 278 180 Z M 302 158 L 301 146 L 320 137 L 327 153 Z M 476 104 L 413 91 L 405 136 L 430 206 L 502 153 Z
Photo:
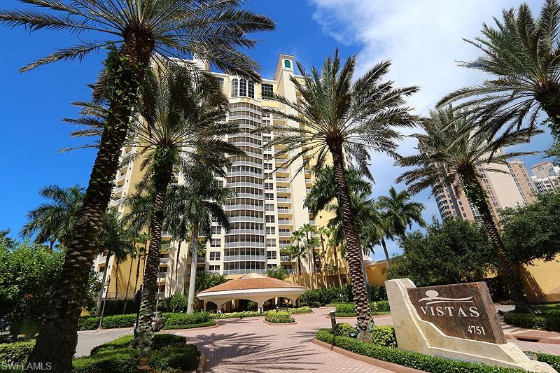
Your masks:
M 491 365 L 465 363 L 458 360 L 436 358 L 421 353 L 414 353 L 393 349 L 391 347 L 377 346 L 375 344 L 361 342 L 350 337 L 333 337 L 328 329 L 319 330 L 316 338 L 320 341 L 332 344 L 333 340 L 338 347 L 346 351 L 352 351 L 363 356 L 369 356 L 389 363 L 412 367 L 425 372 L 454 372 L 454 373 L 521 373 L 524 370 L 516 370 Z

